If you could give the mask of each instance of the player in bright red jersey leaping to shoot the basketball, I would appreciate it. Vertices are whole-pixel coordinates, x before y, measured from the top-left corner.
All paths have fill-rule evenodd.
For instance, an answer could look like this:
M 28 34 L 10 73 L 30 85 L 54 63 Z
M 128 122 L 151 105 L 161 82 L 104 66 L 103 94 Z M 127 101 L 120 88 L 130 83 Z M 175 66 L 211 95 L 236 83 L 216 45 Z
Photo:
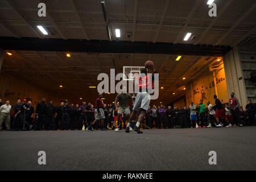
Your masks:
M 137 78 L 136 83 L 138 84 L 139 92 L 137 93 L 137 96 L 135 98 L 133 111 L 130 115 L 129 122 L 126 126 L 126 133 L 130 132 L 130 123 L 136 120 L 135 118 L 139 110 L 141 111 L 141 113 L 139 114 L 138 121 L 134 126 L 134 131 L 136 131 L 139 134 L 143 133 L 141 130 L 139 130 L 139 125 L 141 125 L 141 122 L 143 121 L 146 115 L 146 111 L 148 110 L 148 107 L 150 105 L 150 94 L 148 93 L 147 89 L 152 89 L 151 87 L 154 88 L 154 75 L 152 75 L 152 78 L 150 78 L 150 76 L 147 75 L 147 69 L 151 69 L 154 73 L 158 73 L 154 68 L 154 64 L 150 65 L 150 67 L 143 68 L 141 70 L 141 76 Z

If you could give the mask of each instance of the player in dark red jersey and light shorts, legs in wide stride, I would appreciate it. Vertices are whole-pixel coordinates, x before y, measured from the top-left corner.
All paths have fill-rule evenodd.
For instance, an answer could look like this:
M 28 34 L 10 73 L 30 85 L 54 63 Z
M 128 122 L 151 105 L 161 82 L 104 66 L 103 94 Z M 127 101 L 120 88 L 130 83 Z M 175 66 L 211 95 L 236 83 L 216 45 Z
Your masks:
M 92 124 L 90 124 L 90 126 L 88 127 L 88 130 L 93 131 L 93 126 L 95 126 L 97 122 L 101 122 L 101 131 L 106 131 L 104 127 L 104 121 L 105 121 L 105 114 L 103 110 L 104 102 L 102 101 L 101 98 L 102 98 L 102 94 L 98 94 L 98 98 L 96 100 L 95 120 L 92 122 Z

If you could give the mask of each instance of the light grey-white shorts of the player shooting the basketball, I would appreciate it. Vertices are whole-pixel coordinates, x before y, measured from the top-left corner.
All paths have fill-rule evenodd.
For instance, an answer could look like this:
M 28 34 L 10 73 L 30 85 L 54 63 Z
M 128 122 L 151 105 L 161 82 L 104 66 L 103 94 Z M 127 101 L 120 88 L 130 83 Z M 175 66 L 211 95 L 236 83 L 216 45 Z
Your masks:
M 139 109 L 144 109 L 147 111 L 149 105 L 150 94 L 147 92 L 138 92 L 134 102 L 133 110 L 139 111 Z

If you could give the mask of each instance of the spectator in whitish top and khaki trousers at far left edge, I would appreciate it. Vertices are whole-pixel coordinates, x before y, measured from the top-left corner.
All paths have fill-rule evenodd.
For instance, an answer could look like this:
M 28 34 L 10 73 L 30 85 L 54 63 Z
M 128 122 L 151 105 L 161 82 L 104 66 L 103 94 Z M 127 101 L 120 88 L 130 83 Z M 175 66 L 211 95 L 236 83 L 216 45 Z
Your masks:
M 0 131 L 2 131 L 3 122 L 5 122 L 6 130 L 10 131 L 10 128 L 11 128 L 10 111 L 11 111 L 10 101 L 6 101 L 5 105 L 0 106 Z

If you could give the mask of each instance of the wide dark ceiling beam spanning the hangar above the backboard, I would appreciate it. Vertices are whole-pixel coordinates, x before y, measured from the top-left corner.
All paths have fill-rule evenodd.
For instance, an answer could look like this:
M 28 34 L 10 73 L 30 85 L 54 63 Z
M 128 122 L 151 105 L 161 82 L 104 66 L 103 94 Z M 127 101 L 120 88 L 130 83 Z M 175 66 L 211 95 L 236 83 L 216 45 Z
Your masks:
M 38 39 L 0 37 L 0 47 L 9 50 L 146 53 L 171 55 L 222 56 L 232 49 L 229 46 L 193 44 L 148 43 L 109 40 Z

